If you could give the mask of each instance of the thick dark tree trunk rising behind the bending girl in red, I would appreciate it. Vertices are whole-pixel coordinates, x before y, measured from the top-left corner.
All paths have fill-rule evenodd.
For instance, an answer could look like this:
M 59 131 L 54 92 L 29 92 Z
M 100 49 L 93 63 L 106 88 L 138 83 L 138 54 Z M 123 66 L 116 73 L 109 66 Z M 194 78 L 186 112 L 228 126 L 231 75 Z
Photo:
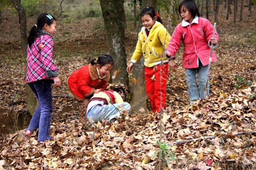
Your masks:
M 119 74 L 115 74 L 115 79 L 112 79 L 112 82 L 123 83 L 124 86 L 127 86 L 128 73 L 126 72 L 127 62 L 124 46 L 124 1 L 100 0 L 100 3 L 109 44 L 109 53 L 112 55 L 115 62 L 114 74 L 115 71 L 119 70 Z

